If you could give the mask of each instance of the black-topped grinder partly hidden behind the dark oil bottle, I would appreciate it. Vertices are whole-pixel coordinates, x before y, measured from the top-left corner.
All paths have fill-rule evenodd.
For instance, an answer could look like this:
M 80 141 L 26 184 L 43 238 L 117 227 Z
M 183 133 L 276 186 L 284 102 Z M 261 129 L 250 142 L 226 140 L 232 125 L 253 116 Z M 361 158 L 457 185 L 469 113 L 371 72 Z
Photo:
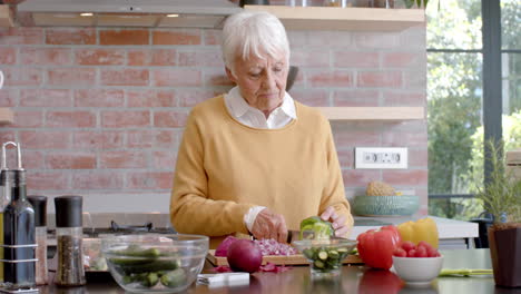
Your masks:
M 29 196 L 29 203 L 35 209 L 35 226 L 36 226 L 36 283 L 37 285 L 46 285 L 47 280 L 47 197 L 46 196 Z

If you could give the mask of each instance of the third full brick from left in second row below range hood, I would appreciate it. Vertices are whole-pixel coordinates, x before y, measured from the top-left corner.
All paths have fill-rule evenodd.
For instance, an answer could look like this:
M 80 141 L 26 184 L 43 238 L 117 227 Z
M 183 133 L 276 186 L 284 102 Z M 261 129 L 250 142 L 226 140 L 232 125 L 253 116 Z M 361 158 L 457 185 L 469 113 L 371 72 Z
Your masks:
M 129 66 L 175 66 L 176 58 L 174 49 L 129 50 L 127 53 Z

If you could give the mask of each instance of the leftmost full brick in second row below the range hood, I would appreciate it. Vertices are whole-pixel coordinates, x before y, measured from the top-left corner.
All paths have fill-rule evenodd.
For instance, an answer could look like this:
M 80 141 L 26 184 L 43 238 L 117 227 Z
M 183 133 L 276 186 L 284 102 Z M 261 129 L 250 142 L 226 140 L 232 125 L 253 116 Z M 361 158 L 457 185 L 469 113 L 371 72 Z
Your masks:
M 21 48 L 20 62 L 37 66 L 66 66 L 72 61 L 70 49 Z

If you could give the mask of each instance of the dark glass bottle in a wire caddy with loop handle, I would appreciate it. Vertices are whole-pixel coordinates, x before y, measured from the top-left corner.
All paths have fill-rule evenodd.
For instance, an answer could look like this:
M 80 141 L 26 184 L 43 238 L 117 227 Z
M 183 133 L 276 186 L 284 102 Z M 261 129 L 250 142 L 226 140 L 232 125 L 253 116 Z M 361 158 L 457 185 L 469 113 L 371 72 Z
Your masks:
M 18 167 L 6 167 L 6 147 L 17 146 Z M 1 183 L 11 198 L 3 212 L 3 282 L 10 290 L 36 285 L 36 232 L 35 210 L 27 199 L 26 170 L 21 164 L 20 144 L 8 141 L 2 146 Z M 4 195 L 6 196 L 6 195 Z

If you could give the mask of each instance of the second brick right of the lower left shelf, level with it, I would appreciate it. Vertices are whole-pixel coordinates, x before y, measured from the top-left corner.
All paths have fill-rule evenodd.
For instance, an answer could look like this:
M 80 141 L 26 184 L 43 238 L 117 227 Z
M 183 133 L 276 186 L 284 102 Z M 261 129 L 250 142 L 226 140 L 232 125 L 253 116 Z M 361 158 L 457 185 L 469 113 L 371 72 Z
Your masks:
M 49 111 L 46 126 L 65 128 L 96 127 L 96 115 L 91 111 Z

